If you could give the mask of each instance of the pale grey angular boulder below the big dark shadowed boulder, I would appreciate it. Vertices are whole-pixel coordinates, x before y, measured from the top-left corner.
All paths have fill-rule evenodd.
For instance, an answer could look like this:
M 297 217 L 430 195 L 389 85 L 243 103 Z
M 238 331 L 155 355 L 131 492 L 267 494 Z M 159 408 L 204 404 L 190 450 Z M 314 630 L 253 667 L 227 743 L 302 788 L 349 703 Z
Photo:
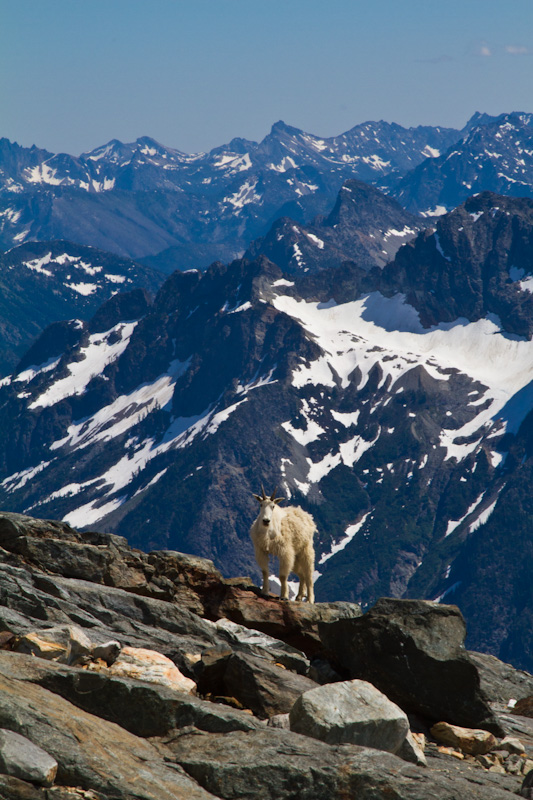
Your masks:
M 305 692 L 290 713 L 291 731 L 328 744 L 359 744 L 397 753 L 407 715 L 367 681 L 330 683 Z

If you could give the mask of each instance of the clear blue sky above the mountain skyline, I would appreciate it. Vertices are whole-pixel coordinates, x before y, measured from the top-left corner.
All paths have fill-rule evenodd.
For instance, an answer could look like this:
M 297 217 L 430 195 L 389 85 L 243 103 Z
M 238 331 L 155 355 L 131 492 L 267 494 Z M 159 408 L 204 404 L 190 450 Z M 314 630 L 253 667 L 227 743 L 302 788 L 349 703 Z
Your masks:
M 533 0 L 0 0 L 0 136 L 186 152 L 533 111 Z

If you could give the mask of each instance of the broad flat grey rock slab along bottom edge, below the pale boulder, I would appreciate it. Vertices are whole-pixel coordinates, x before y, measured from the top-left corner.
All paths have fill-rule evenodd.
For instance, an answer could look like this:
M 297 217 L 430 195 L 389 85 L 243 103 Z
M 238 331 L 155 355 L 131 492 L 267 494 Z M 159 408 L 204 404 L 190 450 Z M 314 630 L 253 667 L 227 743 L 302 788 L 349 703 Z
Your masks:
M 199 731 L 164 740 L 165 752 L 225 800 L 512 800 L 453 774 L 431 774 L 391 753 L 328 745 L 285 730 Z

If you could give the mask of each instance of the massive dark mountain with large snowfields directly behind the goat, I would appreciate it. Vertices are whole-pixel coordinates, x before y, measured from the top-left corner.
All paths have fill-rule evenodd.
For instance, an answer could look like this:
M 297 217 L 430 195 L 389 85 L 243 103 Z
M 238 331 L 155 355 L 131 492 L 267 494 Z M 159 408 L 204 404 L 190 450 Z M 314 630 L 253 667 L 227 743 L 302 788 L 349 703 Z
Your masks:
M 469 647 L 531 670 L 531 213 L 485 194 L 383 269 L 261 255 L 53 326 L 0 387 L 1 507 L 259 577 L 252 493 L 279 485 L 317 599 L 452 598 Z

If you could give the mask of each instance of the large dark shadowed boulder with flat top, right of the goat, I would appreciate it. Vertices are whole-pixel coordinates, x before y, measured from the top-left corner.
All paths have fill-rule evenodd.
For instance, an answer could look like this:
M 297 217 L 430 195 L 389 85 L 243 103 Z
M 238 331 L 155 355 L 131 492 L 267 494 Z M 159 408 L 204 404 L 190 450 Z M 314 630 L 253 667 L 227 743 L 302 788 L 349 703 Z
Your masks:
M 382 598 L 362 617 L 320 633 L 351 678 L 370 681 L 404 711 L 503 735 L 464 649 L 456 606 Z

